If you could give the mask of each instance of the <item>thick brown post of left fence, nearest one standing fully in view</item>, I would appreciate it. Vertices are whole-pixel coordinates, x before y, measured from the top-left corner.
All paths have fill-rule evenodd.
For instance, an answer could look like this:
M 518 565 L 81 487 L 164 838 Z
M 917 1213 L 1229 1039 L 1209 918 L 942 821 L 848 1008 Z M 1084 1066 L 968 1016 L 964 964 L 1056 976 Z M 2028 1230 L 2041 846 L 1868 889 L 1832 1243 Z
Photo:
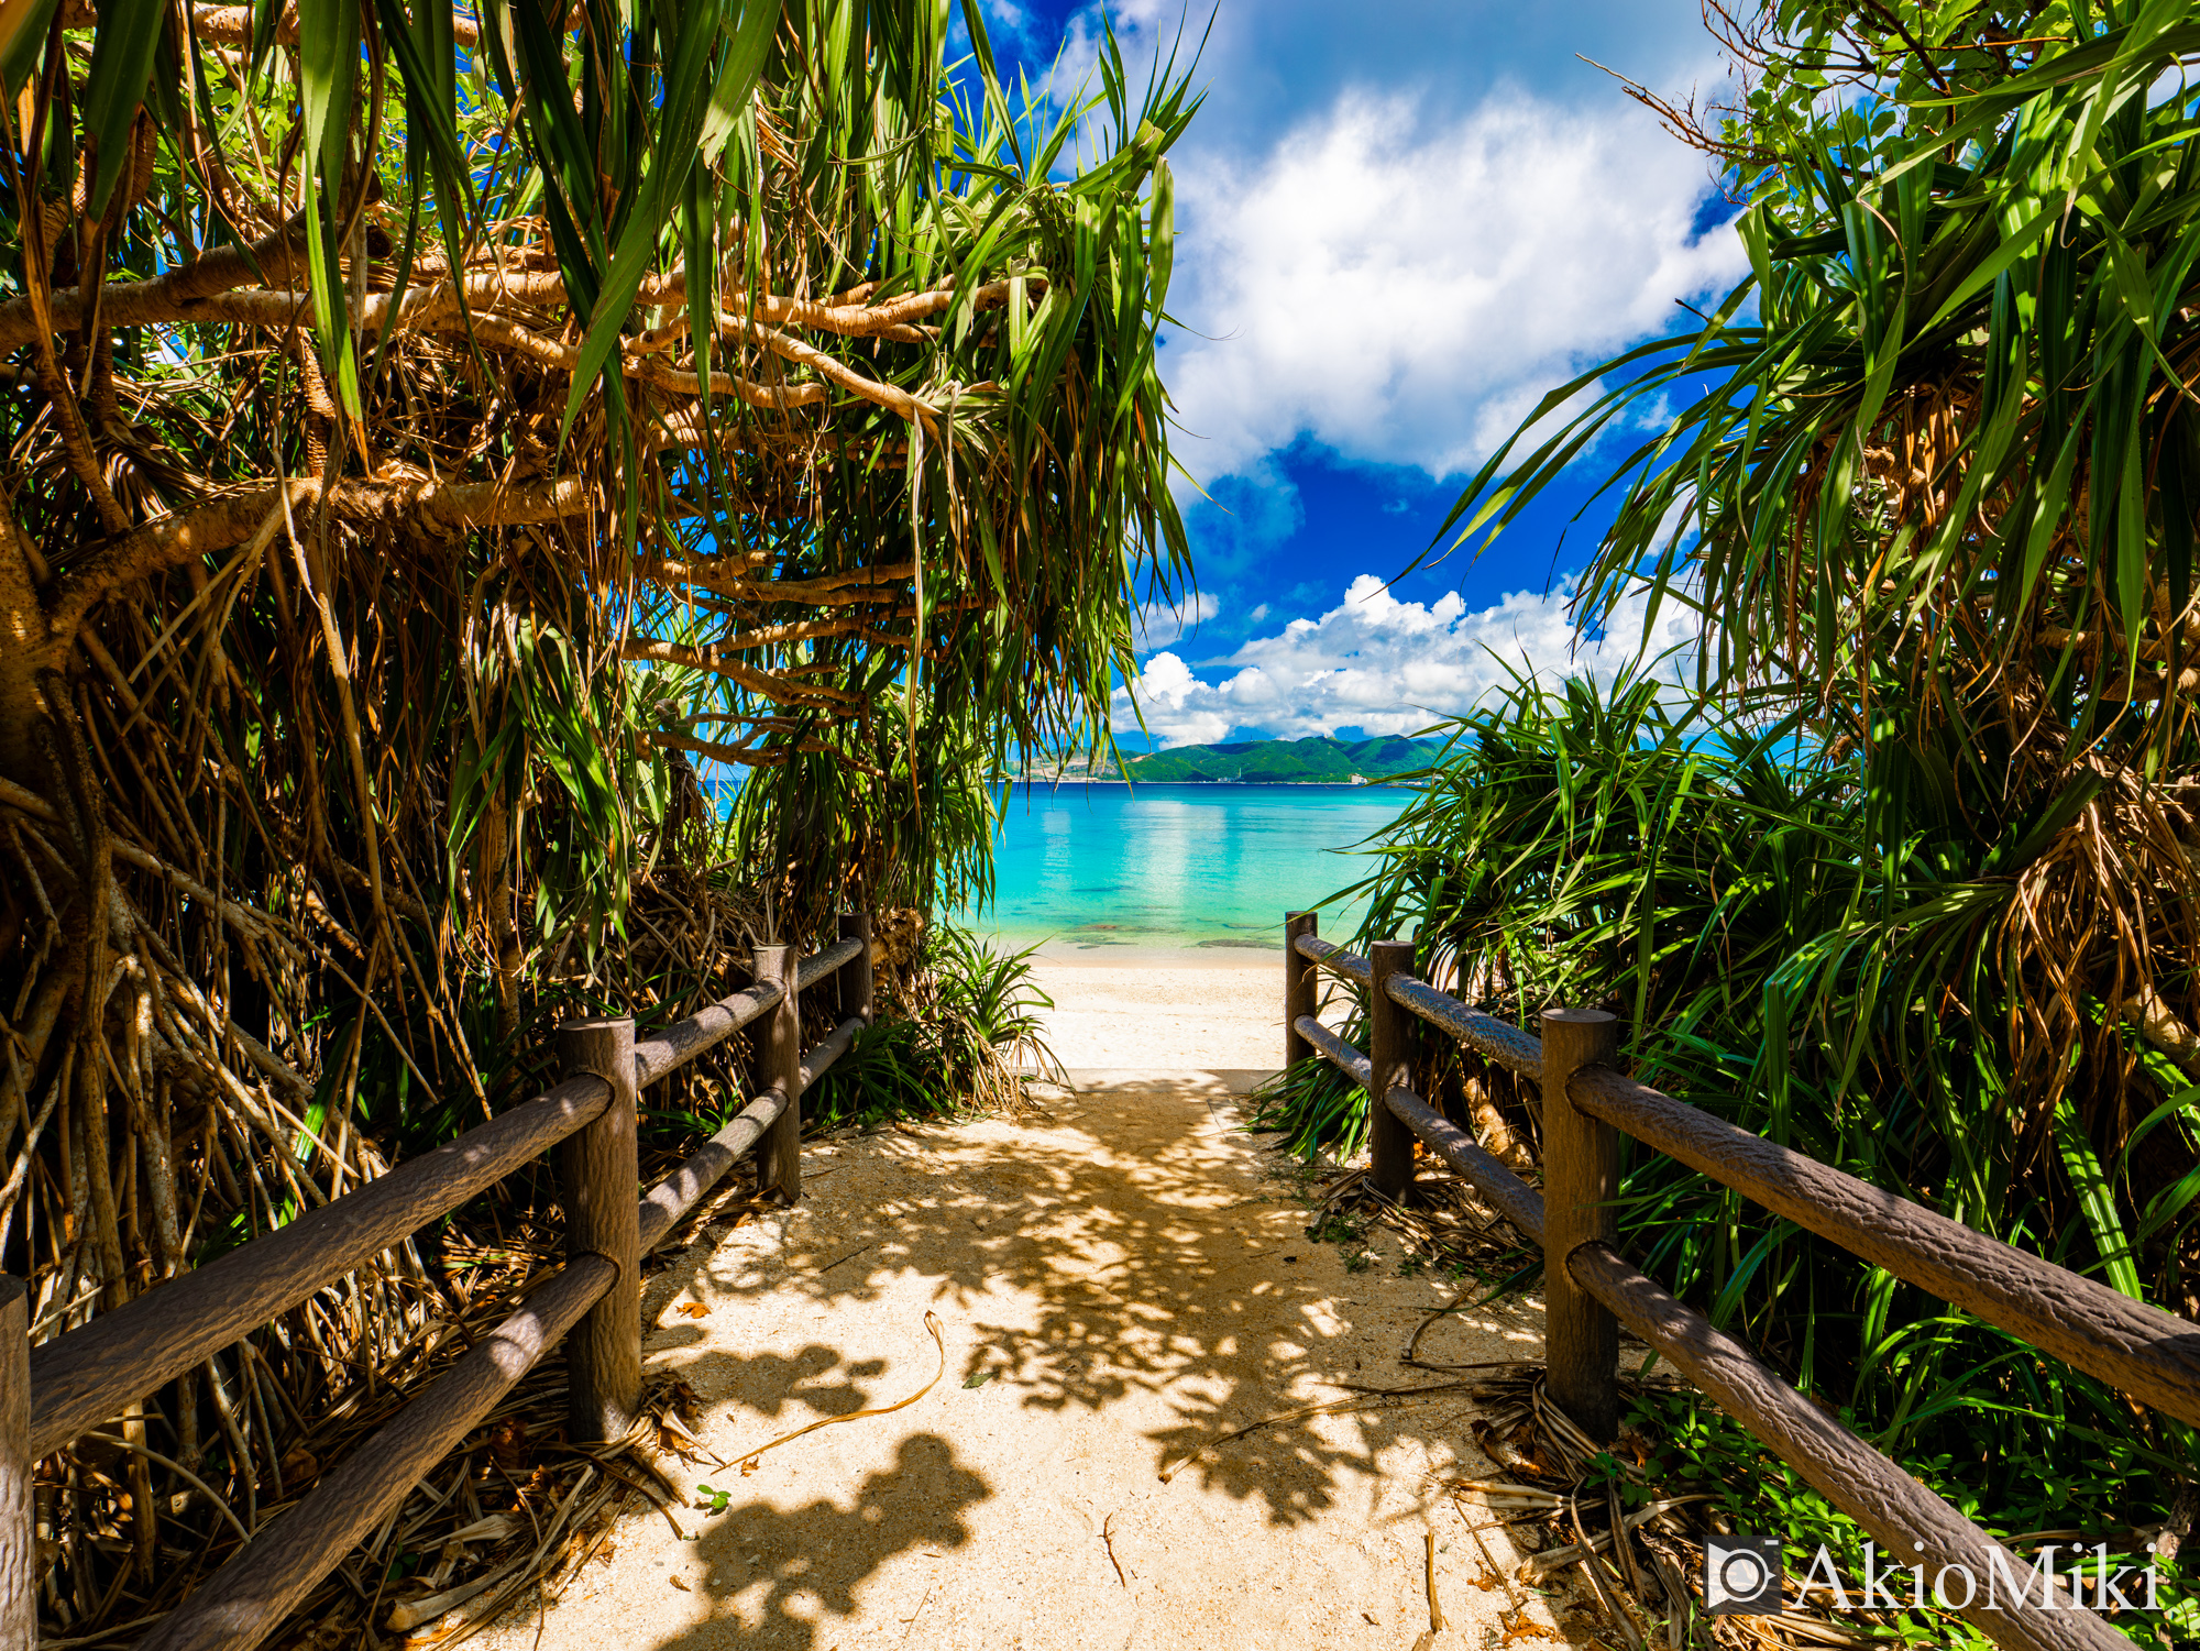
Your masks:
M 565 1257 L 601 1255 L 618 1283 L 565 1336 L 565 1382 L 576 1444 L 623 1440 L 642 1407 L 642 1169 L 636 1158 L 634 1021 L 565 1021 L 559 1070 L 592 1072 L 612 1103 L 559 1147 Z

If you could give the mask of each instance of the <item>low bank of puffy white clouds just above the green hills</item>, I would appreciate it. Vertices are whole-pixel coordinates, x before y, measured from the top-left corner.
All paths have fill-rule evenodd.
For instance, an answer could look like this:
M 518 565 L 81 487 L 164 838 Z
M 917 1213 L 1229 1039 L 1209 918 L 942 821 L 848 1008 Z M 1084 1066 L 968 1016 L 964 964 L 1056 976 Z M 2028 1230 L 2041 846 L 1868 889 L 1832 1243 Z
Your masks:
M 1164 746 L 1212 744 L 1234 729 L 1278 740 L 1338 729 L 1419 733 L 1472 711 L 1516 671 L 1553 685 L 1569 674 L 1610 680 L 1694 638 L 1690 616 L 1668 605 L 1646 643 L 1643 601 L 1628 599 L 1602 638 L 1584 641 L 1569 601 L 1564 590 L 1516 592 L 1470 614 L 1459 594 L 1432 605 L 1399 601 L 1362 575 L 1320 619 L 1294 619 L 1239 647 L 1225 660 L 1236 671 L 1221 682 L 1199 680 L 1177 654 L 1155 654 L 1133 685 L 1115 689 L 1115 724 L 1129 731 L 1142 711 Z M 1659 667 L 1663 676 L 1690 669 L 1685 652 Z

